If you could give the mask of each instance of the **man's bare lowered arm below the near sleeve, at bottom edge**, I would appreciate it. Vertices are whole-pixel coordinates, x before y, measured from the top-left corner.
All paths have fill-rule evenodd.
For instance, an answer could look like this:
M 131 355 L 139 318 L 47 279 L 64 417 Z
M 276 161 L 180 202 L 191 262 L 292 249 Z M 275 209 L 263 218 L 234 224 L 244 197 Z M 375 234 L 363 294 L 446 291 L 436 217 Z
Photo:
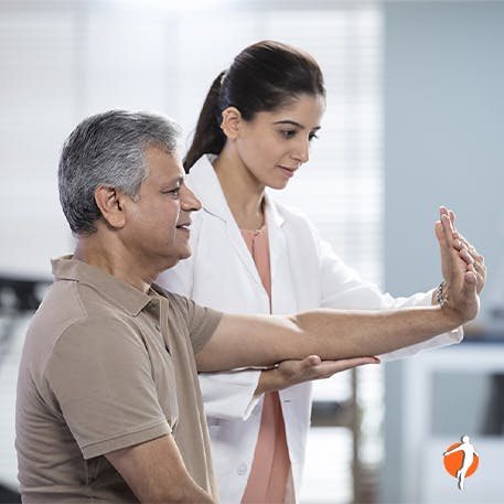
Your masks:
M 215 504 L 185 469 L 172 436 L 105 455 L 141 503 Z

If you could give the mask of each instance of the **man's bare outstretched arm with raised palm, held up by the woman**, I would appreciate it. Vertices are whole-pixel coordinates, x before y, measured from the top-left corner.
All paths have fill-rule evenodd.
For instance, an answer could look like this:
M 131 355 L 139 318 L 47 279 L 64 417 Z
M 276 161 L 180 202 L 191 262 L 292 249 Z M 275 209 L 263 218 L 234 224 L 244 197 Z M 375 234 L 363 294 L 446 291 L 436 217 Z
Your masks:
M 450 256 L 450 298 L 442 307 L 379 312 L 314 310 L 292 317 L 224 315 L 196 355 L 199 371 L 272 365 L 315 354 L 322 360 L 378 355 L 450 331 L 478 314 L 476 275 L 455 248 L 450 216 L 441 215 Z

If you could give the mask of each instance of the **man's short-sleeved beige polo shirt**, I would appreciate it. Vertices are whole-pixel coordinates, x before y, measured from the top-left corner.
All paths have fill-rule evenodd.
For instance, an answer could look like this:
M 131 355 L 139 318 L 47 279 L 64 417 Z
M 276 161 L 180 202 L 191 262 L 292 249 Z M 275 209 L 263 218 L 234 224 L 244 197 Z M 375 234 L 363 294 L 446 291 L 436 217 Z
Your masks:
M 71 256 L 53 274 L 19 372 L 24 502 L 137 502 L 104 454 L 170 433 L 216 496 L 194 354 L 221 313 L 157 286 L 143 293 Z

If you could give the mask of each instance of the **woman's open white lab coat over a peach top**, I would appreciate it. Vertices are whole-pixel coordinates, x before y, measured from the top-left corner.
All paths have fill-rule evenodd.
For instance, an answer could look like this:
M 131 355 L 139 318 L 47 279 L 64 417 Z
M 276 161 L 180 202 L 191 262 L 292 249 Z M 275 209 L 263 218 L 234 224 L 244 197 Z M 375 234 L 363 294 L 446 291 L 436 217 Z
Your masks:
M 165 271 L 159 282 L 199 304 L 234 313 L 269 313 L 268 296 L 253 257 L 226 204 L 208 158 L 187 175 L 202 200 L 193 214 L 190 259 Z M 266 197 L 270 246 L 271 312 L 294 313 L 313 308 L 384 309 L 430 304 L 432 292 L 394 299 L 360 279 L 322 242 L 308 219 Z M 385 356 L 401 357 L 457 343 L 462 330 L 433 337 Z M 244 494 L 261 418 L 254 399 L 259 371 L 201 374 L 222 504 L 237 504 Z M 311 383 L 280 390 L 294 492 L 299 496 L 311 412 Z

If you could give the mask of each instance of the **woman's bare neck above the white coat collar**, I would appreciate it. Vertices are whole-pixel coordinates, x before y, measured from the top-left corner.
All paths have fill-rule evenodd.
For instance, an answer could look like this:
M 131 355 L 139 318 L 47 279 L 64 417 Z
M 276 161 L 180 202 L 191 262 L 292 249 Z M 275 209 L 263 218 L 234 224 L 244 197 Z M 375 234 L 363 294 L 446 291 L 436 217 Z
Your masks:
M 213 165 L 238 227 L 260 229 L 265 224 L 265 185 L 226 148 Z

